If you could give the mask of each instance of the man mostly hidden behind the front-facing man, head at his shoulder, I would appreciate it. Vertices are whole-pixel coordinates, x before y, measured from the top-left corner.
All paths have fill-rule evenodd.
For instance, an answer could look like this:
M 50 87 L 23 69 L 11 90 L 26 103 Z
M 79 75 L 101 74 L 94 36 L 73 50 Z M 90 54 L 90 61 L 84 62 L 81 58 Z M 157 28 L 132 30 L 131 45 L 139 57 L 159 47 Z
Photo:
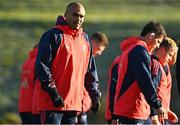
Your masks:
M 102 32 L 93 33 L 90 36 L 90 41 L 92 43 L 92 48 L 93 48 L 92 55 L 94 57 L 100 56 L 109 43 L 106 34 Z M 90 82 L 88 79 L 86 81 Z M 91 108 L 91 99 L 86 89 L 84 89 L 84 97 L 82 100 L 82 112 L 79 112 L 77 115 L 77 124 L 88 124 L 87 111 L 90 108 Z

